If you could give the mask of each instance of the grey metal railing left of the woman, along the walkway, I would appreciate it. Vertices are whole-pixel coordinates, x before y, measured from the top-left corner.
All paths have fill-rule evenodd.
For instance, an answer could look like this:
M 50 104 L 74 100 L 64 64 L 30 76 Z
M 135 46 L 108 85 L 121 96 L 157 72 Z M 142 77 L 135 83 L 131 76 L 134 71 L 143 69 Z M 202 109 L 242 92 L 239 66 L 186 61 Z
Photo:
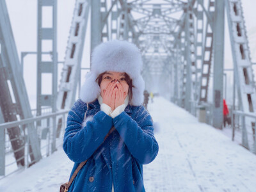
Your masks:
M 34 124 L 36 127 L 37 141 L 40 144 L 40 154 L 42 157 L 51 155 L 57 148 L 62 146 L 68 111 L 61 110 L 56 113 L 47 113 L 41 116 L 0 124 L 0 179 L 19 170 L 26 169 L 35 163 L 31 147 L 29 149 L 29 146 L 33 145 L 33 143 L 28 141 L 29 124 Z M 36 125 L 38 121 L 41 121 L 40 126 Z M 12 139 L 12 141 L 22 141 L 22 143 L 17 143 L 20 147 L 16 150 L 12 149 L 12 141 L 8 136 L 8 131 L 12 131 L 12 127 L 20 128 L 20 135 Z M 19 155 L 17 159 L 15 153 L 19 152 L 22 153 L 22 156 Z

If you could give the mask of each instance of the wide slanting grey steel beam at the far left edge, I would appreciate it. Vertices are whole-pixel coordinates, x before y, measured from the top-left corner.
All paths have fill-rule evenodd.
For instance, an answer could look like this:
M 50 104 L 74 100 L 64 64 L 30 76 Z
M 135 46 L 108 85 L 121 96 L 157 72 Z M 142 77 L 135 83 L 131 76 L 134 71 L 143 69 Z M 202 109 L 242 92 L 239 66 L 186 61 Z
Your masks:
M 13 38 L 12 26 L 5 1 L 0 1 L 0 107 L 4 122 L 11 122 L 32 116 L 26 85 L 22 77 L 19 56 Z M 13 96 L 13 97 L 12 97 Z M 24 166 L 24 138 L 21 135 L 23 127 L 12 127 L 7 130 L 15 151 L 18 165 Z M 42 156 L 34 125 L 28 125 L 30 158 L 33 163 Z M 0 147 L 4 147 L 1 145 Z M 0 165 L 1 166 L 1 165 Z

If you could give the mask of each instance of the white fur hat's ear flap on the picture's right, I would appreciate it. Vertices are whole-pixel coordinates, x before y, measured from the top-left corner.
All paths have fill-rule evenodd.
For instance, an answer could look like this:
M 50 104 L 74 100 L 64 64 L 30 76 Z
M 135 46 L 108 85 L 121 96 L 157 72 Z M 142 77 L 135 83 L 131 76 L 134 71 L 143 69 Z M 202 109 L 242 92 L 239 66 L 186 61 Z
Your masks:
M 145 89 L 145 81 L 141 76 L 138 76 L 132 79 L 132 106 L 140 106 L 144 102 L 144 89 Z

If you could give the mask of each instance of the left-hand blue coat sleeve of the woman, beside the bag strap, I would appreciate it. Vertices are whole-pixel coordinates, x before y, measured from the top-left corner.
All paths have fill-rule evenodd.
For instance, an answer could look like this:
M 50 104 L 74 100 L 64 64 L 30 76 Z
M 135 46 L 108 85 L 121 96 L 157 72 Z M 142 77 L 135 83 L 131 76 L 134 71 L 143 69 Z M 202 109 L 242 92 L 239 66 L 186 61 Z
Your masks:
M 93 115 L 93 120 L 82 127 L 86 104 L 77 100 L 68 112 L 67 127 L 63 139 L 63 149 L 75 163 L 85 161 L 104 141 L 113 126 L 111 116 L 103 111 Z

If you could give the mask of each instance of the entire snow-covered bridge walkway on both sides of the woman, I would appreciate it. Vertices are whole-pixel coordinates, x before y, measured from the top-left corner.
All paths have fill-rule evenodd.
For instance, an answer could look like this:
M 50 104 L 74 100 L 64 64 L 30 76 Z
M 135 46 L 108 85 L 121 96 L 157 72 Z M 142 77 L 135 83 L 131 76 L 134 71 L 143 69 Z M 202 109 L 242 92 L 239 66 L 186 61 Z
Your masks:
M 256 191 L 256 156 L 162 97 L 148 105 L 159 153 L 143 165 L 146 191 Z M 73 163 L 60 148 L 0 180 L 0 191 L 58 191 Z

